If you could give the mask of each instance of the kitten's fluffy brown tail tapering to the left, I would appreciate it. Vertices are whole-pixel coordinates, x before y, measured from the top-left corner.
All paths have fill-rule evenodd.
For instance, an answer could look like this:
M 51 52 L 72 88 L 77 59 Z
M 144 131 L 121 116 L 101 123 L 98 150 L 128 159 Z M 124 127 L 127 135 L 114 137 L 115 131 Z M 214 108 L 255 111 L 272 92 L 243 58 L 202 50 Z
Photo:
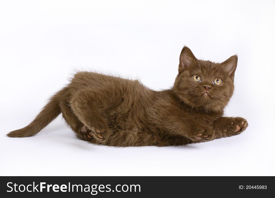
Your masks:
M 22 138 L 37 134 L 61 113 L 59 102 L 66 92 L 66 88 L 58 91 L 49 99 L 49 102 L 42 108 L 41 112 L 38 113 L 29 125 L 12 131 L 8 133 L 7 136 L 11 138 Z

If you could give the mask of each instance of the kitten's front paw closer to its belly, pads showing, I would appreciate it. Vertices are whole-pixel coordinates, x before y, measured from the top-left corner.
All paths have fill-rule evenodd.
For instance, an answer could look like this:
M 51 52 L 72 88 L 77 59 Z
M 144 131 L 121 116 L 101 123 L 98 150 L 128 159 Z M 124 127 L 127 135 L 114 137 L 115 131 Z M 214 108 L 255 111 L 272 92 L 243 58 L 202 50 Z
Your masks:
M 214 131 L 208 126 L 197 126 L 191 129 L 190 139 L 196 142 L 210 141 L 214 137 Z

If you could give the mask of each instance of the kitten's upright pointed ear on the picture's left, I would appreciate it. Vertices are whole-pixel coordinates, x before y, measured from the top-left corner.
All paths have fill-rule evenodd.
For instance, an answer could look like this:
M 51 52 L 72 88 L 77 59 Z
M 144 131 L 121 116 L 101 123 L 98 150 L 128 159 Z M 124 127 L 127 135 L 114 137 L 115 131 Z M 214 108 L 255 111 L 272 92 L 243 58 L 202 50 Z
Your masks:
M 194 60 L 197 60 L 197 59 L 193 55 L 192 51 L 188 47 L 184 46 L 179 56 L 178 72 L 181 73 L 183 72 L 183 70 L 190 67 L 190 65 Z

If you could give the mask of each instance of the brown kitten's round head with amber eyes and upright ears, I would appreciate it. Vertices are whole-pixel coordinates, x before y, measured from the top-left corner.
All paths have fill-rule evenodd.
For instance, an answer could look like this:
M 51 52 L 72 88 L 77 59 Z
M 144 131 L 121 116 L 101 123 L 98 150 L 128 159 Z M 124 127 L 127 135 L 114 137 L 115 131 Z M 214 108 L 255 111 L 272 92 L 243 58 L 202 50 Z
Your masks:
M 173 90 L 192 108 L 222 111 L 234 91 L 237 55 L 222 63 L 198 60 L 188 47 L 180 54 L 178 75 Z

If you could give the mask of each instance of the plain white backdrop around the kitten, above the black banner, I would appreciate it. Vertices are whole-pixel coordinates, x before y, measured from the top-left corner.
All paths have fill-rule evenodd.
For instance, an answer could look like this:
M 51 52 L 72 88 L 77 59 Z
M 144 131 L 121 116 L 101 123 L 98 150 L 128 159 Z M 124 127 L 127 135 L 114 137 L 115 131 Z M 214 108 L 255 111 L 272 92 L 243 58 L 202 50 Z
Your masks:
M 1 1 L 0 175 L 275 175 L 274 1 Z M 226 115 L 248 120 L 231 138 L 182 147 L 97 146 L 59 116 L 30 138 L 26 126 L 74 69 L 137 77 L 168 89 L 179 54 L 221 62 L 237 54 Z

